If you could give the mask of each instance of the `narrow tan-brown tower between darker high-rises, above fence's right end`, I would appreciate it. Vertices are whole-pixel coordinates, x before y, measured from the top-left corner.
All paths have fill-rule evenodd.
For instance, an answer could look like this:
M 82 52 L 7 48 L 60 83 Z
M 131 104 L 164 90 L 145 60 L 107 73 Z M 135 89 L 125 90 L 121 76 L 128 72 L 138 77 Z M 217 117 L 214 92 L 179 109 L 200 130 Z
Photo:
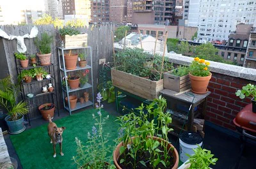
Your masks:
M 109 1 L 109 20 L 115 24 L 127 23 L 127 0 Z

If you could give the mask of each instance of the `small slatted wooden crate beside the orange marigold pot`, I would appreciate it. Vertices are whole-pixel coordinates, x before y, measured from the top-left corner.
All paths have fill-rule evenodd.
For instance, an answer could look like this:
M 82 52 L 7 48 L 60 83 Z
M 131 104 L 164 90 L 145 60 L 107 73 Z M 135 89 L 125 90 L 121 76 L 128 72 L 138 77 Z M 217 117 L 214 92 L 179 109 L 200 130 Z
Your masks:
M 171 89 L 172 91 L 182 92 L 190 89 L 191 82 L 189 80 L 189 75 L 183 77 L 177 77 L 171 75 L 172 71 L 167 71 L 164 73 L 164 88 Z

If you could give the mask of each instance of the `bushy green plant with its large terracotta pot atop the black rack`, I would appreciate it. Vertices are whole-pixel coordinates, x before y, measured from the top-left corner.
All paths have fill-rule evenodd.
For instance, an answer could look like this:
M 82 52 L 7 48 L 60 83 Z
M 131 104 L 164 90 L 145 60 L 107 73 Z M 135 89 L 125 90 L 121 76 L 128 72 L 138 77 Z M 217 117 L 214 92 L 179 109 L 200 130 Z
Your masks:
M 38 37 L 35 38 L 35 45 L 40 51 L 36 55 L 38 56 L 41 65 L 51 64 L 52 41 L 52 36 L 49 36 L 46 32 L 42 33 L 41 40 L 39 40 Z

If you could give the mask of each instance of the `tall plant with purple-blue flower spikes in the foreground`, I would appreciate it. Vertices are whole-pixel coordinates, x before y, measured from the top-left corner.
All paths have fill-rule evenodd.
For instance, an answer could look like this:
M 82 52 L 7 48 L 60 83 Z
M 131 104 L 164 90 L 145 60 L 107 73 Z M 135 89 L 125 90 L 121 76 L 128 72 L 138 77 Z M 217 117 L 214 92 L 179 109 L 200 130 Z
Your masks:
M 103 105 L 100 105 L 102 96 L 100 93 L 97 94 L 98 101 L 98 112 L 97 114 L 92 114 L 93 120 L 95 121 L 95 126 L 92 127 L 92 133 L 88 132 L 88 141 L 86 144 L 81 142 L 76 137 L 76 156 L 73 156 L 73 160 L 77 165 L 77 168 L 111 168 L 114 169 L 114 165 L 109 165 L 111 161 L 108 153 L 111 152 L 111 147 L 107 146 L 109 142 L 109 133 L 104 135 L 103 129 L 104 124 L 109 119 L 109 115 L 104 117 L 101 113 L 101 108 Z

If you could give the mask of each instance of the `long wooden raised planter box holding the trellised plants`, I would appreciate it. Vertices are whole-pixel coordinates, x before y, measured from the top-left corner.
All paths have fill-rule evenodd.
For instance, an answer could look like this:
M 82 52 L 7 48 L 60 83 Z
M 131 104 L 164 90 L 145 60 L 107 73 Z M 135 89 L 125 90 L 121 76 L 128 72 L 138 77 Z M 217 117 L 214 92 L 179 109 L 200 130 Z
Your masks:
M 111 69 L 112 82 L 115 87 L 130 92 L 145 99 L 158 98 L 159 91 L 163 90 L 163 79 L 152 81 L 125 73 L 123 71 Z

